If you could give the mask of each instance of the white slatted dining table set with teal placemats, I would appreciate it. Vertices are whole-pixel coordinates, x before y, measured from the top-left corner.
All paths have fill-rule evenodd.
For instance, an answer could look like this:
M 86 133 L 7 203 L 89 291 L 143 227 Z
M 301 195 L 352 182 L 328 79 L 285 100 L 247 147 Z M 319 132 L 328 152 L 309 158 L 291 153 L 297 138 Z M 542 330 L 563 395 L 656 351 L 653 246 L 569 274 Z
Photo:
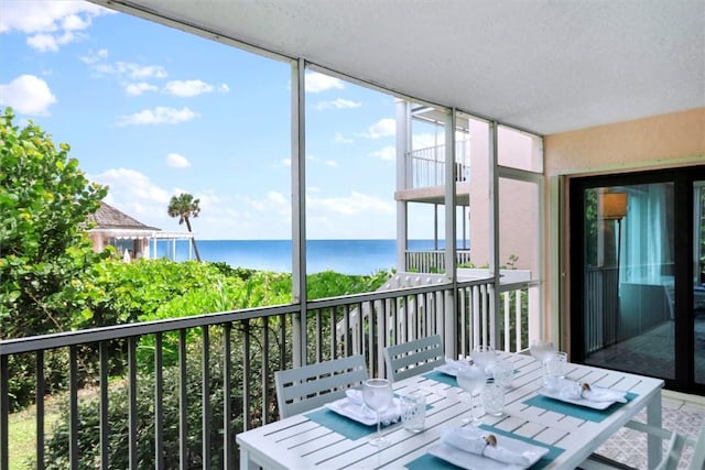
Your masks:
M 484 415 L 482 428 L 550 448 L 551 452 L 532 468 L 575 469 L 644 408 L 647 423 L 661 427 L 660 379 L 568 363 L 570 380 L 628 392 L 628 403 L 595 411 L 540 394 L 541 364 L 531 356 L 500 354 L 514 364 L 514 378 L 506 394 L 503 414 Z M 401 424 L 390 425 L 383 428 L 390 444 L 377 448 L 368 442 L 376 427 L 360 433 L 359 426 L 352 424 L 356 433 L 349 433 L 348 418 L 322 407 L 238 434 L 240 468 L 448 468 L 445 461 L 429 455 L 429 449 L 438 444 L 444 429 L 463 425 L 463 418 L 469 415 L 468 394 L 454 376 L 438 371 L 395 382 L 393 389 L 397 394 L 426 395 L 423 431 L 414 434 Z M 477 397 L 475 401 L 479 402 Z M 648 446 L 652 468 L 661 458 L 661 439 L 650 437 Z

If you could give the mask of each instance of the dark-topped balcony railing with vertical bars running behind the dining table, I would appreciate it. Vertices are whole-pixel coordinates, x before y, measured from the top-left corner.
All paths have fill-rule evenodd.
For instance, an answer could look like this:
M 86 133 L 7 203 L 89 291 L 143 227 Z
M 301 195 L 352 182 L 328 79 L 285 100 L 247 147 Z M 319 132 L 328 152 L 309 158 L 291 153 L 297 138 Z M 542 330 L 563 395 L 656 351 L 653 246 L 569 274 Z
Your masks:
M 494 293 L 487 278 L 433 283 L 0 341 L 0 470 L 18 438 L 13 368 L 34 370 L 35 468 L 234 468 L 235 435 L 279 417 L 276 370 L 362 353 L 384 375 L 384 347 L 434 334 L 448 354 L 525 349 L 528 284 Z

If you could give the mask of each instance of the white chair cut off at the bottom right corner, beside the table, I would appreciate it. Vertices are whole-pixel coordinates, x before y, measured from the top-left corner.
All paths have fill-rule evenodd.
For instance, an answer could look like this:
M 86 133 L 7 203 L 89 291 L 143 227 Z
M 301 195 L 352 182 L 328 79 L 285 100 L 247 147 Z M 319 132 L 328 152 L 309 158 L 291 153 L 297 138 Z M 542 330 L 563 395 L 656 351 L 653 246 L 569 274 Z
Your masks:
M 687 446 L 693 447 L 693 455 L 691 456 L 691 461 L 686 468 L 688 470 L 705 469 L 705 425 L 703 425 L 698 435 L 695 437 L 633 420 L 627 423 L 626 427 L 647 433 L 651 436 L 661 437 L 668 442 L 663 458 L 661 459 L 661 462 L 654 467 L 654 470 L 676 470 L 679 468 L 681 456 L 683 455 L 683 449 Z M 594 455 L 581 463 L 581 468 L 584 470 L 607 470 L 630 469 L 631 467 L 615 462 L 599 455 Z

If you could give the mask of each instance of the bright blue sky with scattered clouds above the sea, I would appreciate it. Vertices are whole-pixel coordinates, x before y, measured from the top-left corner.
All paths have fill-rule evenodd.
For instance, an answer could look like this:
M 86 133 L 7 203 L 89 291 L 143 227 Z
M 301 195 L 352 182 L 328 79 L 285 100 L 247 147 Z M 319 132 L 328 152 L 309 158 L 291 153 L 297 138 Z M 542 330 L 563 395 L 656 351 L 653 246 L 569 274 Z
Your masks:
M 200 239 L 291 237 L 289 64 L 80 1 L 0 0 L 0 107 L 109 204 L 182 231 L 191 193 Z M 306 100 L 308 238 L 394 238 L 393 97 L 312 73 Z

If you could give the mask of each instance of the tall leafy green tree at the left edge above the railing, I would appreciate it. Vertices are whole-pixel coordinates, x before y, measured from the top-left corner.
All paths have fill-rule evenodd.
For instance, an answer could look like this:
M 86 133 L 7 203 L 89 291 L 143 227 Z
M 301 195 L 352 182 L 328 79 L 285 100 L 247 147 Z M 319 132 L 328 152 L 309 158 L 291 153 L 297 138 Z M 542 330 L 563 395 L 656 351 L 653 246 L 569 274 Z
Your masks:
M 82 273 L 99 259 L 86 236 L 107 189 L 50 135 L 0 116 L 0 339 L 64 330 L 84 308 Z

